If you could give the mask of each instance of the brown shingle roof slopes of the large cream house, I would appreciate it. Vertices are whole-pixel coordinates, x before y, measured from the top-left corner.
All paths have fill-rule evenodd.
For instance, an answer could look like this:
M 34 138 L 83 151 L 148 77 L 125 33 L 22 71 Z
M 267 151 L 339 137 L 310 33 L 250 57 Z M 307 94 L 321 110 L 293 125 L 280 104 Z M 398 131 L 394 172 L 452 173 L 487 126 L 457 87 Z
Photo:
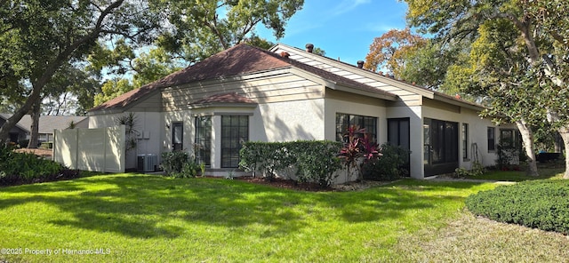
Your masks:
M 395 95 L 389 92 L 382 92 L 372 86 L 361 84 L 348 78 L 334 75 L 325 70 L 314 68 L 296 60 L 282 58 L 274 52 L 268 52 L 248 44 L 237 44 L 223 52 L 219 52 L 211 57 L 196 63 L 188 68 L 181 69 L 169 76 L 157 80 L 151 84 L 146 84 L 139 89 L 126 92 L 115 99 L 92 108 L 90 111 L 97 111 L 107 108 L 123 108 L 134 101 L 140 100 L 145 95 L 158 91 L 160 88 L 188 84 L 195 81 L 215 79 L 227 76 L 238 76 L 247 73 L 267 71 L 276 68 L 288 67 L 301 68 L 317 76 L 321 76 L 336 84 L 343 84 L 349 87 L 366 90 L 368 92 L 381 93 L 388 96 Z

